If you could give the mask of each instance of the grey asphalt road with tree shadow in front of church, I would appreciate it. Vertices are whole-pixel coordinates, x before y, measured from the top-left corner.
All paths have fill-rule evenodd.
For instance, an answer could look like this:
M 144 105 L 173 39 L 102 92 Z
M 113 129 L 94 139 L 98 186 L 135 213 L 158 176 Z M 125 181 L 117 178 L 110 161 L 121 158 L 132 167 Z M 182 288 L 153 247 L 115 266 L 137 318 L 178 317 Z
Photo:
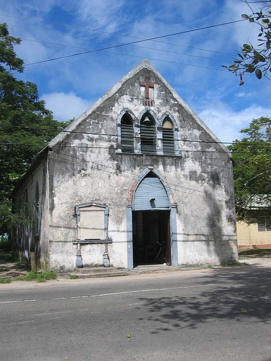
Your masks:
M 271 360 L 270 281 L 254 264 L 1 285 L 0 360 Z

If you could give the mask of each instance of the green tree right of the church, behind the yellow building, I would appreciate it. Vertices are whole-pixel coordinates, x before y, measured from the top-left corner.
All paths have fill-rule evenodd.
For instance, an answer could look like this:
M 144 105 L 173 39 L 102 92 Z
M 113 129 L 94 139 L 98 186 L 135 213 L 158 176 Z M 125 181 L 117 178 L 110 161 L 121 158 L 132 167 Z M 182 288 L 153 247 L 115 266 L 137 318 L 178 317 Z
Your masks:
M 246 134 L 229 148 L 233 152 L 237 219 L 271 210 L 271 118 L 254 119 Z

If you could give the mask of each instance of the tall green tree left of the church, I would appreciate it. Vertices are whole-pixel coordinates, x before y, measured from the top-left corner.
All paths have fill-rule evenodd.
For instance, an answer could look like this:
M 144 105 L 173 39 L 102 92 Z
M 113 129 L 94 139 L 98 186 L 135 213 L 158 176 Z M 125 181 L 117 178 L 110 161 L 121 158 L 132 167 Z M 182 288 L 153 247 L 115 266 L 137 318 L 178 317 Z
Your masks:
M 16 182 L 55 130 L 68 124 L 53 119 L 45 102 L 39 100 L 36 84 L 14 77 L 13 72 L 24 71 L 24 61 L 14 52 L 14 44 L 19 43 L 19 38 L 9 35 L 7 24 L 0 24 L 0 235 L 19 221 L 11 212 Z

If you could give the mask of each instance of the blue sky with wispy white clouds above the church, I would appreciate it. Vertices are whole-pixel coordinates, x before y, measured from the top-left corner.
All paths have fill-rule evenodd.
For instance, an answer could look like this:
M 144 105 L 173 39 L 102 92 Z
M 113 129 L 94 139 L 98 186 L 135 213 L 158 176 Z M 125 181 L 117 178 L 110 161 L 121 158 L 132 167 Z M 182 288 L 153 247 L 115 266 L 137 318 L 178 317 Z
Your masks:
M 136 40 L 131 36 L 150 38 L 238 20 L 249 10 L 240 0 L 9 0 L 0 4 L 0 13 L 73 26 L 0 15 L 10 34 L 23 39 L 15 50 L 27 64 Z M 26 66 L 19 77 L 37 84 L 55 119 L 68 120 L 147 58 L 218 138 L 231 142 L 240 138 L 239 130 L 253 118 L 271 114 L 269 80 L 245 76 L 245 84 L 239 86 L 239 78 L 221 67 L 232 63 L 240 46 L 253 42 L 258 33 L 257 25 L 242 21 L 167 37 L 163 42 Z

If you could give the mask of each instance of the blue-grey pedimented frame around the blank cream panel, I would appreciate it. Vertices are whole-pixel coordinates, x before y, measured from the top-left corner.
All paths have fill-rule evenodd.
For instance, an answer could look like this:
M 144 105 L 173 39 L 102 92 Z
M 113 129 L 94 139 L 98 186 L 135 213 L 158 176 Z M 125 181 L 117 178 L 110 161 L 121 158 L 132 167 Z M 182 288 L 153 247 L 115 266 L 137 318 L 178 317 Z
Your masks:
M 80 211 L 81 209 L 84 209 L 86 207 L 98 207 L 103 209 L 103 211 L 105 212 L 105 238 L 91 238 L 91 239 L 80 239 L 79 238 L 79 234 L 80 234 Z M 90 211 L 92 212 L 92 211 Z M 76 226 L 77 226 L 77 240 L 73 241 L 73 243 L 77 244 L 77 243 L 84 243 L 84 244 L 95 244 L 95 243 L 112 243 L 112 238 L 108 237 L 108 216 L 109 216 L 109 208 L 107 205 L 105 204 L 100 204 L 100 203 L 83 203 L 80 205 L 76 205 L 75 206 L 75 214 L 76 214 Z

